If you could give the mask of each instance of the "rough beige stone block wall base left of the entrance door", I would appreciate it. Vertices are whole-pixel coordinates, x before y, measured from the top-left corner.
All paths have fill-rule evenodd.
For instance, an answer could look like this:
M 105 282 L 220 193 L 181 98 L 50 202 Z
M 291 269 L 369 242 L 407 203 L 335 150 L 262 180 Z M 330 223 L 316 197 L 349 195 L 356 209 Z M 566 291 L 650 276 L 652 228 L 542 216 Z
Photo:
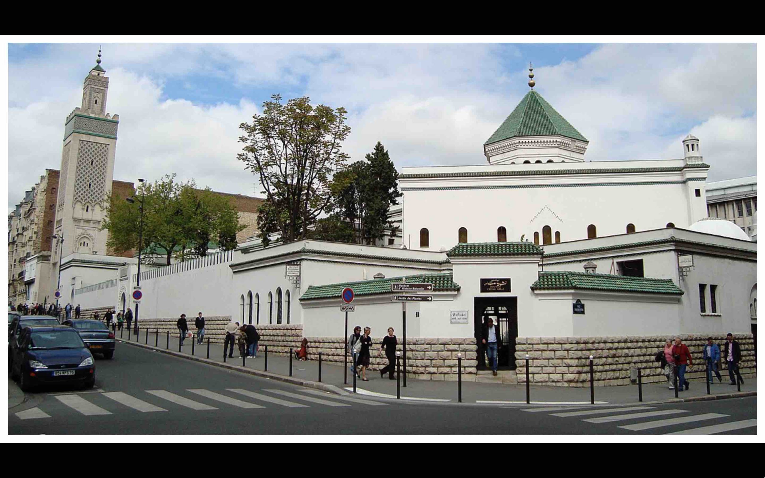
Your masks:
M 261 332 L 262 335 L 262 332 Z M 343 363 L 345 340 L 340 337 L 306 337 L 308 359 Z M 401 337 L 399 346 L 402 351 Z M 369 370 L 379 370 L 388 365 L 385 353 L 379 356 L 382 337 L 372 337 L 372 353 Z M 299 344 L 299 341 L 298 341 Z M 269 346 L 269 353 L 271 347 Z M 462 354 L 462 379 L 474 382 L 476 377 L 476 340 L 469 338 L 411 338 L 406 340 L 406 366 L 410 377 L 424 380 L 457 380 L 457 354 Z M 349 356 L 349 363 L 350 363 Z M 403 364 L 402 364 L 403 365 Z

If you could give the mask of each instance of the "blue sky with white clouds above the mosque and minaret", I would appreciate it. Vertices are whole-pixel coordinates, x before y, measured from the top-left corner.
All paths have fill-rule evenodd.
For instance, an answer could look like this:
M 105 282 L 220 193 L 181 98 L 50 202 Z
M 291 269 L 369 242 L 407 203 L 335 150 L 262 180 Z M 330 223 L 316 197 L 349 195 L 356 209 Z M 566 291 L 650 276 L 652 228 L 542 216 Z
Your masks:
M 60 168 L 98 47 L 8 46 L 9 208 Z M 272 93 L 344 106 L 353 161 L 382 141 L 399 168 L 485 164 L 529 61 L 535 89 L 590 140 L 588 160 L 682 158 L 690 132 L 709 180 L 757 174 L 754 44 L 103 44 L 107 111 L 120 116 L 114 178 L 177 173 L 260 196 L 236 161 L 239 123 Z

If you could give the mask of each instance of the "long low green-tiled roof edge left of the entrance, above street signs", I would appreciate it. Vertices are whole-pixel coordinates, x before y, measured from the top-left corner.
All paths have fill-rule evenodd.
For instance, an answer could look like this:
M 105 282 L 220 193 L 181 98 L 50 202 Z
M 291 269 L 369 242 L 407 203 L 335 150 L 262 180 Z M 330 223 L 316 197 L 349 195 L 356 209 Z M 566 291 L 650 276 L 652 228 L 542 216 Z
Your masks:
M 432 284 L 433 291 L 459 291 L 460 286 L 454 283 L 451 272 L 444 272 L 440 274 L 418 274 L 418 275 L 406 275 L 399 277 L 391 277 L 384 279 L 373 279 L 371 281 L 355 281 L 355 282 L 341 282 L 339 284 L 327 284 L 327 285 L 310 285 L 308 290 L 301 296 L 300 300 L 308 299 L 327 299 L 337 298 L 340 299 L 340 294 L 343 293 L 343 289 L 350 287 L 353 289 L 353 294 L 356 297 L 362 297 L 365 295 L 374 294 L 390 294 L 390 285 L 394 282 L 409 282 L 417 283 L 422 282 L 425 284 Z

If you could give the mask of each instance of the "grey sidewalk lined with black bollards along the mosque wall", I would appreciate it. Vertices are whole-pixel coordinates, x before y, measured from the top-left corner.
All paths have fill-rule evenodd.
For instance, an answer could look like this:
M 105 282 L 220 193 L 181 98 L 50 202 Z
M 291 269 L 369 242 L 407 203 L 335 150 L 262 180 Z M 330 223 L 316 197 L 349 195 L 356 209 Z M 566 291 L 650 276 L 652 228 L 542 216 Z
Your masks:
M 118 342 L 129 344 L 127 334 L 120 340 L 117 334 Z M 145 343 L 145 333 L 141 333 L 139 343 Z M 135 335 L 131 336 L 134 339 Z M 193 339 L 184 340 L 181 354 L 191 355 L 191 342 Z M 154 348 L 155 334 L 149 333 L 148 346 Z M 165 350 L 167 338 L 164 333 L 160 333 L 158 340 L 158 349 Z M 116 354 L 119 355 L 120 343 L 117 346 Z M 178 336 L 170 336 L 169 350 L 178 352 Z M 205 358 L 207 356 L 207 343 L 195 346 L 194 356 Z M 210 360 L 217 363 L 223 363 L 223 344 L 210 343 Z M 349 357 L 350 361 L 350 357 Z M 226 358 L 226 364 L 231 366 L 242 366 L 242 358 L 239 357 L 239 350 L 235 347 L 234 358 Z M 265 366 L 265 350 L 260 347 L 257 359 L 246 359 L 245 367 L 247 369 L 263 371 Z M 268 372 L 281 376 L 289 375 L 289 358 L 287 356 L 277 356 L 269 354 Z M 350 369 L 347 373 L 347 384 L 343 382 L 343 366 L 336 363 L 322 363 L 321 381 L 328 385 L 335 385 L 339 389 L 353 390 L 353 376 Z M 300 362 L 292 359 L 292 377 L 316 382 L 318 380 L 318 361 L 309 360 Z M 386 376 L 380 378 L 379 371 L 367 371 L 366 378 L 368 382 L 361 379 L 356 381 L 356 389 L 359 394 L 376 395 L 386 398 L 396 398 L 396 380 L 389 380 Z M 701 379 L 690 381 L 688 392 L 679 392 L 680 400 L 690 399 L 715 399 L 731 398 L 731 394 L 737 396 L 757 395 L 757 379 L 745 379 L 746 382 L 741 385 L 741 394 L 738 395 L 735 385 L 728 385 L 728 376 L 724 374 L 723 382 L 709 385 L 711 395 L 707 395 L 706 384 Z M 409 399 L 424 399 L 433 402 L 457 402 L 457 382 L 440 382 L 433 380 L 407 379 L 407 386 L 403 386 L 403 377 L 401 381 L 401 397 Z M 556 387 L 549 385 L 530 385 L 529 395 L 532 404 L 557 404 L 557 405 L 581 405 L 590 403 L 590 389 Z M 675 391 L 667 389 L 666 382 L 643 384 L 643 402 L 672 402 L 675 401 Z M 514 405 L 526 404 L 526 384 L 509 385 L 480 382 L 462 382 L 462 402 L 464 403 L 493 403 L 494 405 Z M 596 404 L 633 404 L 638 402 L 637 385 L 625 385 L 614 387 L 595 387 Z

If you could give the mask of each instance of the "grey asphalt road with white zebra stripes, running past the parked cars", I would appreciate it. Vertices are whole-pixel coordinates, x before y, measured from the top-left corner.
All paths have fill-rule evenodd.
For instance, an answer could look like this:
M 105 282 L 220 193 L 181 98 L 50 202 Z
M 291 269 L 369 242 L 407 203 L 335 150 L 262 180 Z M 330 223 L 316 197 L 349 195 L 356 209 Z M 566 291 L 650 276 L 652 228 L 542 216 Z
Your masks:
M 114 359 L 96 356 L 93 390 L 29 393 L 8 410 L 8 434 L 757 433 L 756 397 L 644 407 L 342 398 L 118 344 Z

